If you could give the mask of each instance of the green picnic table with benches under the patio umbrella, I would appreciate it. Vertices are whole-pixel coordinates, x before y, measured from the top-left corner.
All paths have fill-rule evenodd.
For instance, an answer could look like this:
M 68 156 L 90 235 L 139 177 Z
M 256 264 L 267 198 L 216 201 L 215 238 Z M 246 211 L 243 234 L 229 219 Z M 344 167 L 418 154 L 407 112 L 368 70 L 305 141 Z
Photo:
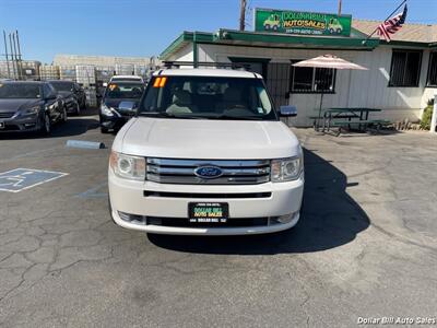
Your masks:
M 342 128 L 352 130 L 353 128 L 361 131 L 367 130 L 369 125 L 375 125 L 379 129 L 381 126 L 389 124 L 388 120 L 383 119 L 369 119 L 370 113 L 378 113 L 381 109 L 378 108 L 366 108 L 366 107 L 334 107 L 324 110 L 322 117 L 311 117 L 315 119 L 315 129 L 319 130 L 320 120 L 322 121 L 321 130 L 330 131 L 332 127 L 338 127 L 341 133 Z M 316 124 L 317 119 L 317 124 Z

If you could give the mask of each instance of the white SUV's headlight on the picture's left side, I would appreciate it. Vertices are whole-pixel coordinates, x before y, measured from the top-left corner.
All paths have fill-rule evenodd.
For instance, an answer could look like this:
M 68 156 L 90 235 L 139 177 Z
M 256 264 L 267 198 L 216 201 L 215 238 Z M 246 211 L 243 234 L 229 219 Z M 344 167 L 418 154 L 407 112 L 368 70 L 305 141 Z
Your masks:
M 109 166 L 115 175 L 131 180 L 145 180 L 145 159 L 110 152 Z

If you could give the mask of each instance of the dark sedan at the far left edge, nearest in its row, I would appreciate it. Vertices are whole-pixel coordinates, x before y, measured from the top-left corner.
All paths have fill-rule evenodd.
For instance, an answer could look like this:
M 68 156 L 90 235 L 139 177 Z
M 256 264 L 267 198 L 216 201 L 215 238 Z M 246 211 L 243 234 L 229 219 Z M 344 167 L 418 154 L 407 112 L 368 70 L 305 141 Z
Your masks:
M 0 132 L 39 131 L 67 121 L 67 110 L 56 90 L 47 82 L 0 83 Z

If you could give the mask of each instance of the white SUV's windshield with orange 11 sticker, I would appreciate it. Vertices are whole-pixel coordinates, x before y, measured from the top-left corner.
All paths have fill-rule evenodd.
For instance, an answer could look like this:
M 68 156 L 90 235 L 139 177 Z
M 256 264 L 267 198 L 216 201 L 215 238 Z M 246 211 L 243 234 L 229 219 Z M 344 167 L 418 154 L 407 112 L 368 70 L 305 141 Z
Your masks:
M 139 115 L 276 120 L 260 79 L 154 77 Z

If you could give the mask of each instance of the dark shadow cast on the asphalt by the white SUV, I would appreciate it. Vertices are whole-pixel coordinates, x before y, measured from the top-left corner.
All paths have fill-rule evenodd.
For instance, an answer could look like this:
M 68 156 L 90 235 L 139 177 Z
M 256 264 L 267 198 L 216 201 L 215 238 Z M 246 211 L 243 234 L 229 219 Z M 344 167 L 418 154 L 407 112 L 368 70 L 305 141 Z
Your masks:
M 270 255 L 326 250 L 352 242 L 369 219 L 346 194 L 346 176 L 305 150 L 305 195 L 299 223 L 292 230 L 253 236 L 170 236 L 149 234 L 156 246 L 186 253 Z

